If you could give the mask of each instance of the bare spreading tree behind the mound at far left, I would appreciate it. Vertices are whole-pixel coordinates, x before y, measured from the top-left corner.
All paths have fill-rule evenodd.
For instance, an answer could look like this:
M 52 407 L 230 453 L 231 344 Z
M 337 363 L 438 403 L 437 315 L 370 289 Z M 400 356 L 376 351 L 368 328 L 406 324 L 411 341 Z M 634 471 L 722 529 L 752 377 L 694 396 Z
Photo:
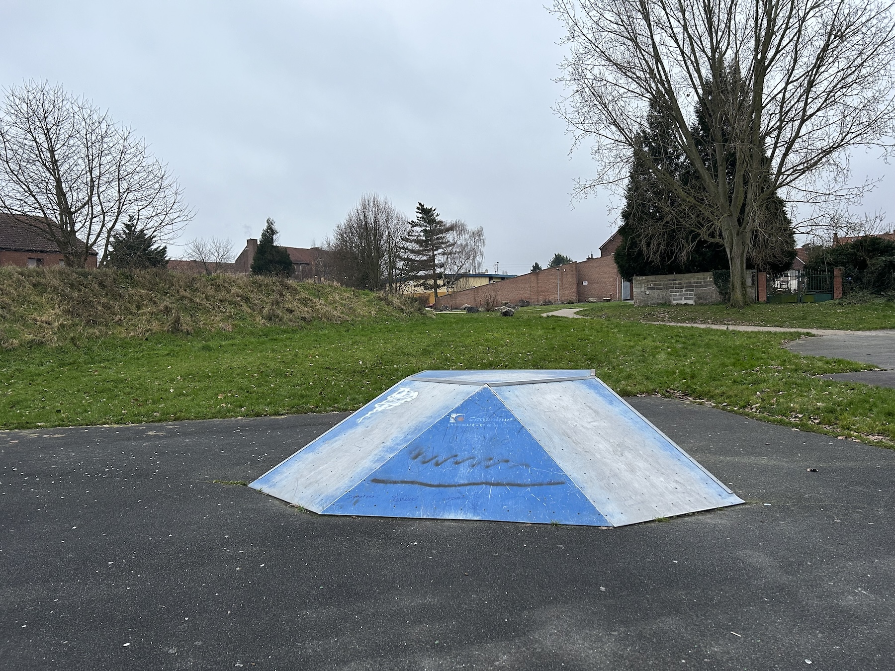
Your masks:
M 33 217 L 29 224 L 59 246 L 66 265 L 83 268 L 90 248 L 105 256 L 126 221 L 167 242 L 192 217 L 167 166 L 107 112 L 45 81 L 5 94 L 0 206 Z

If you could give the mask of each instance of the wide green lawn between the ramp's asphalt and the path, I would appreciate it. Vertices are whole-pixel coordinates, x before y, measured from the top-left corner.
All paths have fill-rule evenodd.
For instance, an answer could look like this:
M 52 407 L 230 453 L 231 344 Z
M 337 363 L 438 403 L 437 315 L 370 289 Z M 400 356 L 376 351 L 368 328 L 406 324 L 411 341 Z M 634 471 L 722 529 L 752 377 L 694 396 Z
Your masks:
M 621 395 L 895 446 L 895 390 L 812 377 L 866 367 L 780 348 L 793 337 L 531 311 L 20 346 L 0 351 L 0 427 L 345 411 L 422 369 L 575 368 L 596 369 Z

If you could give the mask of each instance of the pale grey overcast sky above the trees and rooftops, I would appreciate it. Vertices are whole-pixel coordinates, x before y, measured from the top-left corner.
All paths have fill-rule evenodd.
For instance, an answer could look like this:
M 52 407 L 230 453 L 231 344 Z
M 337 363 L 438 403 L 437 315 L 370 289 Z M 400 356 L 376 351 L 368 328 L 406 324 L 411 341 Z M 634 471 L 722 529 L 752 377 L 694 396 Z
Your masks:
M 521 273 L 616 227 L 605 194 L 570 203 L 592 164 L 551 111 L 563 32 L 543 4 L 7 0 L 0 81 L 62 83 L 145 135 L 196 209 L 182 243 L 239 251 L 274 217 L 306 247 L 375 191 L 483 226 L 488 266 Z

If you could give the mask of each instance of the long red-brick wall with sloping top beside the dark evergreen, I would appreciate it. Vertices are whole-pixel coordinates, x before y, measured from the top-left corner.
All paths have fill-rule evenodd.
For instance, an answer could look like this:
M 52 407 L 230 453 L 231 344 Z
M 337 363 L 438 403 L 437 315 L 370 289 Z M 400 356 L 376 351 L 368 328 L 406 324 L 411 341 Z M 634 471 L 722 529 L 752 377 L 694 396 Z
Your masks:
M 631 297 L 631 283 L 618 275 L 613 258 L 621 243 L 618 231 L 600 246 L 600 256 L 573 261 L 557 268 L 544 268 L 501 282 L 477 286 L 461 292 L 439 296 L 438 306 L 459 308 L 468 303 L 477 307 L 504 302 L 584 302 L 622 301 Z

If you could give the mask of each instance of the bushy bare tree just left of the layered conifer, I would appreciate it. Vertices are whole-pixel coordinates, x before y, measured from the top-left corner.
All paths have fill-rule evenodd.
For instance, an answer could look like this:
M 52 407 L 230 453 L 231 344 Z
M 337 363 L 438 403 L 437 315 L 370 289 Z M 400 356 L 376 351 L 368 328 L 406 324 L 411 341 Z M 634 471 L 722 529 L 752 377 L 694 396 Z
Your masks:
M 395 293 L 403 282 L 405 216 L 387 198 L 365 193 L 323 246 L 346 285 Z

